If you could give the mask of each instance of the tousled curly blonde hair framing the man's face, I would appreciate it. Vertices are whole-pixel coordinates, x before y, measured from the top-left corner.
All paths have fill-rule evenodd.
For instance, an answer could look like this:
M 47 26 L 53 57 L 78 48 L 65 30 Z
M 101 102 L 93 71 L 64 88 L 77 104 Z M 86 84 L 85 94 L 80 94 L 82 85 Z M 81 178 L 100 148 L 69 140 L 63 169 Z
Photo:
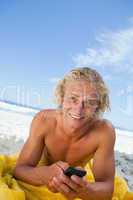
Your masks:
M 100 116 L 106 110 L 110 110 L 108 88 L 101 75 L 96 70 L 89 67 L 72 69 L 62 80 L 59 81 L 55 89 L 55 98 L 59 108 L 62 106 L 62 100 L 65 94 L 65 85 L 67 82 L 72 80 L 87 80 L 89 84 L 95 86 L 99 95 L 99 104 L 95 113 L 97 116 Z

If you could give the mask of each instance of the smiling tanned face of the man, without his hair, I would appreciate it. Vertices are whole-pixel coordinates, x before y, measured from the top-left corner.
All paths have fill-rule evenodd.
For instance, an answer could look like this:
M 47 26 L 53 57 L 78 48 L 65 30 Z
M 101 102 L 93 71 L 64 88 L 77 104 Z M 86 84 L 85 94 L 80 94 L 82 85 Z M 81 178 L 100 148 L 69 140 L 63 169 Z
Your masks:
M 65 120 L 74 127 L 80 127 L 94 117 L 98 102 L 98 92 L 88 81 L 66 83 L 62 103 Z

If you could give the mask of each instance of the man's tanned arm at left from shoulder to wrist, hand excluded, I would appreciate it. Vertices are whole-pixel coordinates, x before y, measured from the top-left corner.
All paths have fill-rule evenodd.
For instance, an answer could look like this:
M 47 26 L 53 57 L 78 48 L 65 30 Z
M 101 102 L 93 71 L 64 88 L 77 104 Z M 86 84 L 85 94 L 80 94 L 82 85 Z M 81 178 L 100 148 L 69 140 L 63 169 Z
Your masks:
M 45 133 L 42 123 L 45 123 L 45 115 L 46 113 L 41 111 L 32 120 L 29 137 L 20 152 L 14 169 L 16 178 L 35 185 L 43 184 L 42 174 L 44 176 L 48 170 L 47 166 L 45 166 L 46 170 L 44 167 L 36 167 L 44 148 Z

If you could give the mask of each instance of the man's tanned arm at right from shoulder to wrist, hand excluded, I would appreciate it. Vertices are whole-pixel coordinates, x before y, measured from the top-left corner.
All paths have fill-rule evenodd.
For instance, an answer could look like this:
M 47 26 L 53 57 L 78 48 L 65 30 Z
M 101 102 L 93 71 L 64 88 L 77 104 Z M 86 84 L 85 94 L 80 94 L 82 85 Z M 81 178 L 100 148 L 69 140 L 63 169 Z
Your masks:
M 114 191 L 115 130 L 109 122 L 106 122 L 99 134 L 101 134 L 100 143 L 94 155 L 92 167 L 95 182 L 87 183 L 86 192 L 80 196 L 83 200 L 111 200 Z M 78 181 L 80 182 L 77 177 L 77 183 Z M 84 184 L 81 182 L 81 185 Z

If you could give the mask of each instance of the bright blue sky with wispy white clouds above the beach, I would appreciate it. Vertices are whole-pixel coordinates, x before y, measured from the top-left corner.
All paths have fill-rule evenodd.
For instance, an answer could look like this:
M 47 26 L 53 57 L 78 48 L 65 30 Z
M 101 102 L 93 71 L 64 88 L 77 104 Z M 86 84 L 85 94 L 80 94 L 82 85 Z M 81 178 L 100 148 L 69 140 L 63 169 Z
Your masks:
M 97 69 L 110 89 L 114 125 L 133 130 L 133 2 L 0 0 L 0 99 L 54 107 L 57 80 Z

